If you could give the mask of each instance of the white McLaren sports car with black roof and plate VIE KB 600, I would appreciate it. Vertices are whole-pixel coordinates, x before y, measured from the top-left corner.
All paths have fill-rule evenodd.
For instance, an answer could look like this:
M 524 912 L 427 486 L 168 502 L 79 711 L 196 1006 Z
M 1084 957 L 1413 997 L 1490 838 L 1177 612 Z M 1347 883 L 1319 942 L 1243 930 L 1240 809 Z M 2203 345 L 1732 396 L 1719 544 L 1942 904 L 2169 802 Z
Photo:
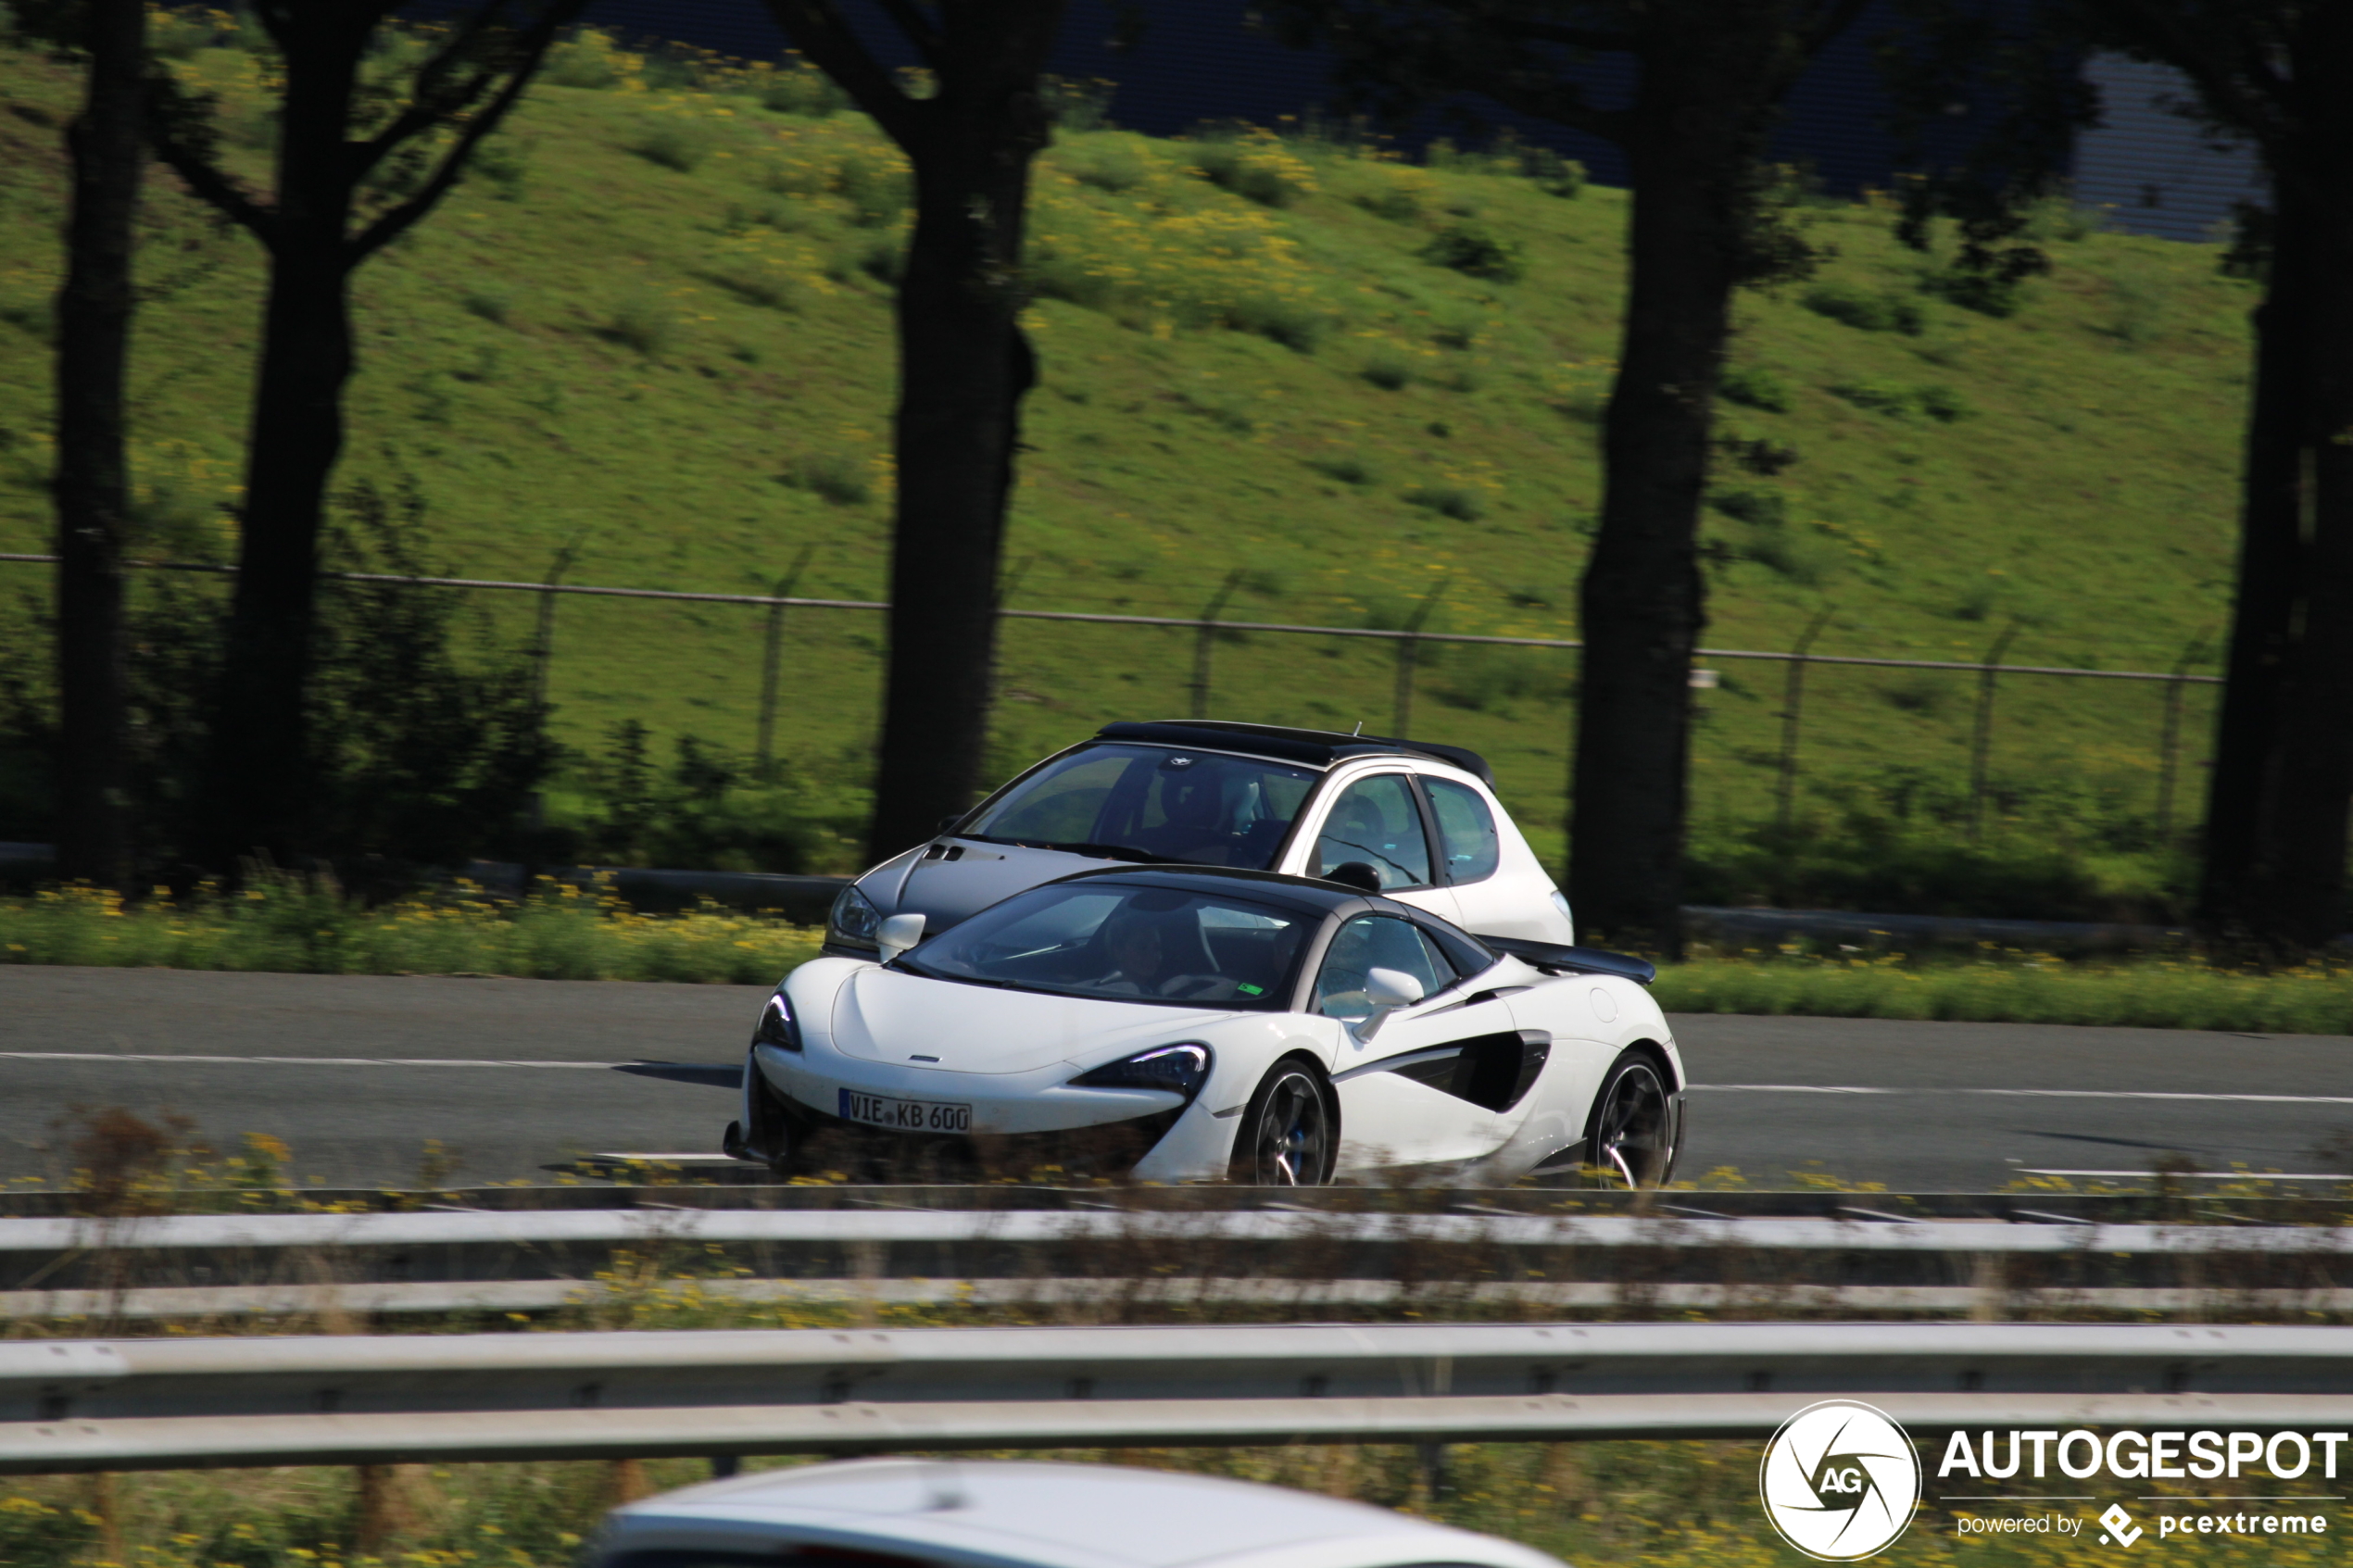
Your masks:
M 899 1180 L 1673 1173 L 1685 1074 L 1642 959 L 1209 867 L 1104 867 L 922 924 L 786 976 L 729 1154 Z

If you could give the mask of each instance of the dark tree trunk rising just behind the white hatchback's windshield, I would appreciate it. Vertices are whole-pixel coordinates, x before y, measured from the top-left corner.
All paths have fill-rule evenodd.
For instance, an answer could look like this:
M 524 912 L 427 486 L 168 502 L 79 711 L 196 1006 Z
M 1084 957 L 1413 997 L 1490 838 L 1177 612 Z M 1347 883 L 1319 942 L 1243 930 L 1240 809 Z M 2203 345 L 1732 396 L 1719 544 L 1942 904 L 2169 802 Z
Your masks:
M 1016 317 L 1021 214 L 1045 113 L 1028 82 L 988 82 L 972 99 L 939 103 L 946 113 L 927 115 L 908 148 L 915 230 L 899 284 L 899 515 L 875 858 L 972 806 L 1021 395 L 1035 381 Z

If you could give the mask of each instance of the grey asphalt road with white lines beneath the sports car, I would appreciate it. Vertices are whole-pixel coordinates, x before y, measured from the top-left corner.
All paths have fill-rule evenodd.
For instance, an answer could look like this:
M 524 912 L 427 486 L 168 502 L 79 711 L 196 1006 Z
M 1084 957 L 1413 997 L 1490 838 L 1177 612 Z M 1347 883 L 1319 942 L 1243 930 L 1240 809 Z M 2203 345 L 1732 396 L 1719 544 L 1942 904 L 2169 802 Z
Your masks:
M 289 1173 L 551 1180 L 584 1154 L 713 1152 L 758 987 L 0 966 L 0 1180 L 54 1178 L 75 1107 L 179 1114 Z M 2353 1039 L 1678 1016 L 1685 1175 L 1984 1192 L 2021 1171 L 2308 1173 L 2353 1138 Z M 1817 1164 L 1819 1161 L 1819 1164 Z

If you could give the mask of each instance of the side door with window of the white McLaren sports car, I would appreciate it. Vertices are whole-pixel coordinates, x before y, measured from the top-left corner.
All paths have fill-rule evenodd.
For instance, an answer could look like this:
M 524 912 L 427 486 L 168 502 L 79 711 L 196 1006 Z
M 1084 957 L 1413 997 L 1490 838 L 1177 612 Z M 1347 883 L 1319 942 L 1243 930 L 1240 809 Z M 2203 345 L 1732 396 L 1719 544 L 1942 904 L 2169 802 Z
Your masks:
M 1544 1065 L 1544 1037 L 1522 1034 L 1506 992 L 1475 990 L 1417 922 L 1358 914 L 1325 950 L 1308 1006 L 1344 1025 L 1369 1011 L 1365 976 L 1395 969 L 1424 999 L 1381 1020 L 1372 1039 L 1341 1030 L 1341 1166 L 1424 1166 L 1492 1154 L 1518 1126 L 1515 1100 Z

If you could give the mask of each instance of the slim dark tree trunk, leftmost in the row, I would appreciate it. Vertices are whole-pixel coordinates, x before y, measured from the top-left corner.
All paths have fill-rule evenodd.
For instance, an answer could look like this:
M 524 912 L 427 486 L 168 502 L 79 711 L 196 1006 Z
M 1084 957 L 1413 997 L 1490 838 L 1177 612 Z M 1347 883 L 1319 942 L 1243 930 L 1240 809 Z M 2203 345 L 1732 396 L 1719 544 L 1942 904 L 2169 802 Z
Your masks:
M 56 296 L 56 875 L 125 889 L 122 548 L 129 538 L 122 383 L 132 237 L 146 176 L 144 0 L 92 0 L 89 92 L 68 129 L 73 216 Z

